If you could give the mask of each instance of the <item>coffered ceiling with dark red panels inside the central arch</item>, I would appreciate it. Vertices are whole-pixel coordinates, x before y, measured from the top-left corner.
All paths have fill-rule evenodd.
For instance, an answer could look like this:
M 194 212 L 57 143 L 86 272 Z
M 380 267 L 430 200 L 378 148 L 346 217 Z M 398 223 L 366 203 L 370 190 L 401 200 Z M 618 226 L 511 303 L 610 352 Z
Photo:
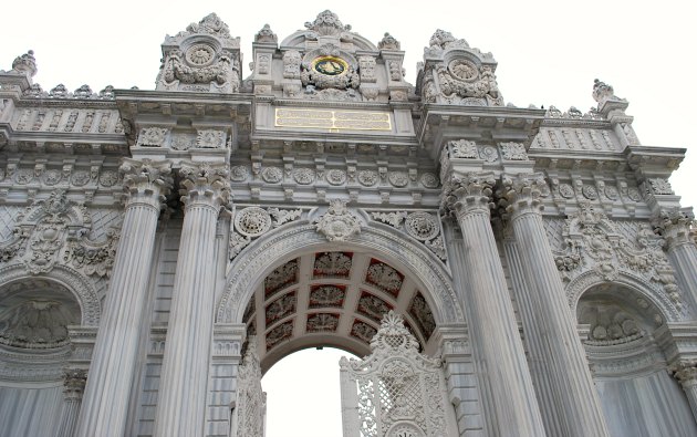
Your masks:
M 424 290 L 367 251 L 313 251 L 277 266 L 254 289 L 243 315 L 257 335 L 262 371 L 305 347 L 370 354 L 383 314 L 403 314 L 426 347 L 436 327 Z

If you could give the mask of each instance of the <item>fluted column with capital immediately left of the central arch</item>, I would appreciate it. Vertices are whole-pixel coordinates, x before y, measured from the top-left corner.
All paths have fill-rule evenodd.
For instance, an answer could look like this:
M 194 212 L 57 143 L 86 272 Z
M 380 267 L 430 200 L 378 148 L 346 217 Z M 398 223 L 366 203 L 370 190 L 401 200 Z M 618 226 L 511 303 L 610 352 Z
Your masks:
M 202 436 L 214 325 L 216 227 L 230 198 L 222 165 L 183 164 L 184 227 L 159 383 L 155 436 Z

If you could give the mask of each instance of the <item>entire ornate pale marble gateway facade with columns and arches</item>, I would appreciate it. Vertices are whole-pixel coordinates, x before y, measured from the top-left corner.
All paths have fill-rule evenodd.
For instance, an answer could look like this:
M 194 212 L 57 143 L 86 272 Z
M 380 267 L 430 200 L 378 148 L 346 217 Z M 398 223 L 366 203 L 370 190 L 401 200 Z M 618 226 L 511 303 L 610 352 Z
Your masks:
M 443 30 L 410 84 L 330 11 L 247 79 L 216 14 L 162 50 L 147 91 L 0 71 L 0 435 L 262 436 L 320 345 L 365 356 L 347 437 L 697 435 L 685 149 L 611 85 L 516 107 Z

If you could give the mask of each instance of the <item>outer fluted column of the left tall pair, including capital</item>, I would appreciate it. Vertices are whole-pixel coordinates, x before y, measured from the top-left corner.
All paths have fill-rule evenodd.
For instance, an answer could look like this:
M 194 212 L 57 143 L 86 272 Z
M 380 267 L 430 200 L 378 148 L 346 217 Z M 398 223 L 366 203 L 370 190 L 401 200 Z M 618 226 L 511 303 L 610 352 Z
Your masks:
M 77 436 L 123 436 L 146 308 L 157 218 L 171 187 L 169 163 L 124 158 L 126 205 Z

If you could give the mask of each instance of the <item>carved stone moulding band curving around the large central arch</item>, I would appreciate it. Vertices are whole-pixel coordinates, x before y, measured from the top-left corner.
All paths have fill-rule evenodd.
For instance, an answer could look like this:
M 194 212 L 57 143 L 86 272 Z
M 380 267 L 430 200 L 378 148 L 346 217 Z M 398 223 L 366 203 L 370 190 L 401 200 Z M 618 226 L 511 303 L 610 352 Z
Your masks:
M 226 287 L 216 311 L 216 322 L 241 323 L 245 305 L 257 282 L 274 266 L 310 250 L 367 250 L 376 253 L 410 273 L 422 285 L 424 296 L 434 310 L 436 323 L 465 322 L 450 275 L 426 248 L 415 244 L 404 235 L 375 227 L 364 227 L 361 233 L 347 241 L 329 242 L 306 221 L 269 232 L 237 256 L 228 269 Z

